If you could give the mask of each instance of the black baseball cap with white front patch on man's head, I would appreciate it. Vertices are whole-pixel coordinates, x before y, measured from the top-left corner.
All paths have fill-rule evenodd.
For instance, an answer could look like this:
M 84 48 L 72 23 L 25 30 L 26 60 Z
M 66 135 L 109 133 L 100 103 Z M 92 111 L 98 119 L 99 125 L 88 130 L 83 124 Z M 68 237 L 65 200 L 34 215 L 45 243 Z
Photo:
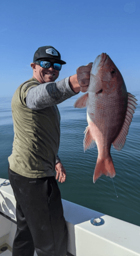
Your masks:
M 65 61 L 61 60 L 61 55 L 53 46 L 42 46 L 34 53 L 33 62 L 45 59 L 54 59 L 60 64 L 66 64 Z

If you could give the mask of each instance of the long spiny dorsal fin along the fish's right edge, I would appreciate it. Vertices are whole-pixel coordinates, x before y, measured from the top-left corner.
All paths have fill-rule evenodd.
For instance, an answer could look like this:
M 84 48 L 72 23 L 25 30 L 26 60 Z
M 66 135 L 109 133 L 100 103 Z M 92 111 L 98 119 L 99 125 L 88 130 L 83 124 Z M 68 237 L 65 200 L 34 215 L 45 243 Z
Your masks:
M 124 120 L 122 129 L 121 129 L 118 137 L 116 137 L 116 139 L 112 143 L 113 147 L 118 151 L 120 151 L 125 144 L 126 136 L 129 132 L 129 126 L 131 124 L 133 114 L 136 109 L 135 106 L 137 105 L 137 103 L 136 103 L 137 100 L 135 99 L 134 95 L 130 94 L 130 92 L 127 92 L 127 96 L 128 96 L 128 102 L 127 102 L 127 110 L 126 110 L 125 120 Z

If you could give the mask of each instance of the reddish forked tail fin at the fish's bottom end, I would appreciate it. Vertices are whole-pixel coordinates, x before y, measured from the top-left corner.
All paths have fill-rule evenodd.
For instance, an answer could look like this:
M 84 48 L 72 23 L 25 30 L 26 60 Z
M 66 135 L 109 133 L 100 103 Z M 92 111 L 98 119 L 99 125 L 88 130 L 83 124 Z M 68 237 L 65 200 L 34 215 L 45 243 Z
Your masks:
M 114 168 L 113 160 L 111 156 L 106 159 L 97 158 L 97 163 L 94 171 L 94 183 L 102 175 L 109 176 L 110 178 L 115 177 L 115 168 Z

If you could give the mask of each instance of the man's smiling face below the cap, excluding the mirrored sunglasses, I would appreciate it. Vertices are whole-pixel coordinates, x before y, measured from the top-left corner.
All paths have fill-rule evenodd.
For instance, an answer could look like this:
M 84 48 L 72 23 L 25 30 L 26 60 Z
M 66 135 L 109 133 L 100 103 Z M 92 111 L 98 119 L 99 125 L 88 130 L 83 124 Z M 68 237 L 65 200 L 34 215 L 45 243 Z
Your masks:
M 48 59 L 52 63 L 56 61 L 53 59 Z M 31 63 L 33 69 L 33 77 L 36 78 L 41 84 L 54 82 L 59 77 L 59 71 L 54 69 L 53 66 L 49 68 L 43 68 L 40 65 Z

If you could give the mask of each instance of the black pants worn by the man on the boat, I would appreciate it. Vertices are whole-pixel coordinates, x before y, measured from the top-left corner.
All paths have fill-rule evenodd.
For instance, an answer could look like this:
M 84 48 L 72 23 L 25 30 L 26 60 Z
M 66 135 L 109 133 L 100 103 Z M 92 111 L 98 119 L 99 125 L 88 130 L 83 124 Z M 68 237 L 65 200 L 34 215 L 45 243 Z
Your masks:
M 27 178 L 8 170 L 16 199 L 13 256 L 65 256 L 67 228 L 55 177 Z

